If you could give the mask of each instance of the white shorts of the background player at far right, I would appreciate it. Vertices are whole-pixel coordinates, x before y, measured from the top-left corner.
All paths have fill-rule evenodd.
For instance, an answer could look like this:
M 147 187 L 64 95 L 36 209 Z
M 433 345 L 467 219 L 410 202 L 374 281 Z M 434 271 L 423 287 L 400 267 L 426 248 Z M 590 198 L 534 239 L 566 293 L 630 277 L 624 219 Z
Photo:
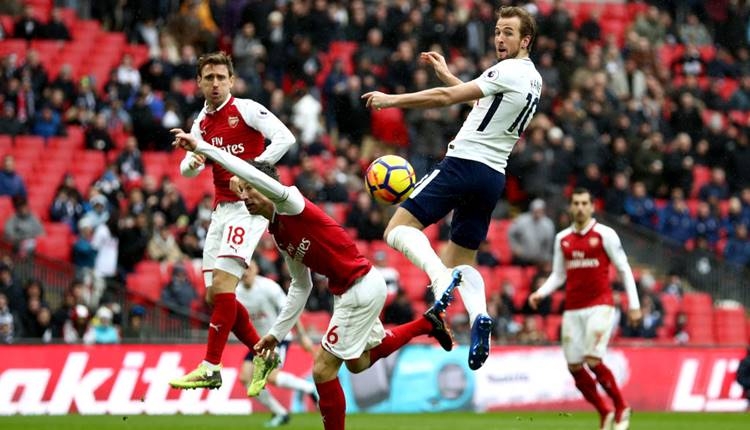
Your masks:
M 602 358 L 612 335 L 615 308 L 598 305 L 563 312 L 562 348 L 565 360 L 583 363 L 585 357 Z

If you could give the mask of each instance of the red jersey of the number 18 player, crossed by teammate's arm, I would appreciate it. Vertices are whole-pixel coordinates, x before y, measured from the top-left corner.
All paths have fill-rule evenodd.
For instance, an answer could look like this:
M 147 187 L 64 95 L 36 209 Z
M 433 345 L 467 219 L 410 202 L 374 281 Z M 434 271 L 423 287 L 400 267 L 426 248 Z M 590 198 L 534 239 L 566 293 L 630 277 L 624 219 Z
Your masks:
M 215 112 L 208 112 L 204 107 L 195 120 L 200 136 L 211 145 L 243 160 L 255 159 L 265 149 L 265 137 L 251 126 L 251 109 L 258 109 L 258 106 L 260 105 L 250 100 L 229 97 Z M 212 163 L 212 166 L 216 191 L 214 206 L 239 200 L 229 190 L 229 179 L 233 175 L 218 163 Z

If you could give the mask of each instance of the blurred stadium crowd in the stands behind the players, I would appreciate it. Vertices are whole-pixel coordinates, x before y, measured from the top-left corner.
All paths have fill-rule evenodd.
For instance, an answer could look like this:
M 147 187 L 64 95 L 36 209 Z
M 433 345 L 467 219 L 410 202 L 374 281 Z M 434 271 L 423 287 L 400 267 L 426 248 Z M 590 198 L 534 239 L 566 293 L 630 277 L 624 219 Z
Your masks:
M 536 14 L 540 31 L 531 56 L 544 87 L 538 113 L 511 156 L 509 205 L 499 206 L 497 217 L 541 205 L 559 229 L 569 223 L 566 190 L 585 186 L 599 209 L 626 222 L 738 267 L 750 263 L 750 170 L 743 168 L 750 165 L 748 2 L 654 0 L 584 8 L 564 1 L 60 0 L 44 9 L 45 16 L 35 10 L 38 3 L 3 2 L 0 13 L 13 19 L 3 21 L 12 25 L 0 38 L 73 40 L 63 17 L 74 11 L 74 19 L 95 19 L 145 44 L 148 58 L 138 63 L 126 53 L 106 82 L 76 75 L 65 64 L 53 74 L 33 49 L 23 61 L 15 53 L 0 58 L 0 134 L 52 138 L 81 127 L 86 148 L 107 159 L 91 184 L 81 186 L 66 174 L 48 202 L 45 217 L 66 223 L 76 237 L 72 262 L 79 276 L 60 308 L 49 309 L 38 281 L 23 280 L 22 286 L 14 280 L 10 259 L 0 267 L 0 323 L 6 313 L 15 314 L 16 336 L 64 338 L 65 320 L 84 314 L 78 305 L 86 309 L 82 320 L 92 313 L 95 321 L 119 325 L 123 317 L 107 294 L 110 280 L 124 282 L 143 260 L 180 267 L 200 258 L 211 196 L 189 201 L 173 180 L 176 162 L 155 176 L 144 157 L 170 151 L 168 130 L 189 125 L 200 110 L 195 68 L 205 52 L 230 52 L 237 74 L 232 93 L 269 107 L 294 131 L 298 146 L 279 163 L 287 174 L 282 180 L 340 211 L 359 241 L 379 241 L 391 208 L 374 204 L 363 190 L 363 167 L 378 155 L 399 153 L 422 177 L 444 153 L 434 142 L 455 135 L 468 107 L 371 112 L 360 96 L 437 85 L 431 70 L 417 62 L 427 50 L 442 53 L 462 80 L 473 79 L 495 61 L 498 4 L 522 4 Z M 34 239 L 44 234 L 42 214 L 28 204 L 28 180 L 6 154 L 0 196 L 13 198 L 15 213 L 4 235 L 21 254 L 33 252 Z M 494 246 L 483 247 L 480 264 L 509 264 Z M 543 252 L 551 256 L 551 243 Z M 256 254 L 262 273 L 287 280 L 270 239 Z M 513 264 L 537 268 L 532 289 L 548 274 L 548 258 L 530 260 L 518 250 L 513 257 Z M 381 263 L 393 273 L 387 261 Z M 650 285 L 646 274 L 640 280 L 641 294 L 649 297 L 644 312 L 653 315 L 643 327 L 623 332 L 656 337 L 663 315 L 659 295 L 649 289 L 653 279 Z M 174 309 L 190 307 L 197 297 L 190 294 L 194 280 L 180 282 L 187 289 L 165 289 L 161 297 Z M 670 291 L 677 295 L 682 291 L 677 275 L 664 284 L 676 285 Z M 399 323 L 420 307 L 398 287 L 397 275 L 393 285 L 385 316 Z M 514 288 L 519 286 L 498 285 L 490 298 L 497 340 L 543 342 L 549 336 L 530 311 L 519 308 L 522 301 L 514 304 Z M 331 297 L 318 290 L 308 308 L 330 310 Z M 542 308 L 559 313 L 559 300 L 550 298 Z M 137 309 L 128 319 L 143 316 Z M 468 328 L 460 317 L 454 323 Z M 680 324 L 669 330 L 668 336 L 684 336 Z M 85 333 L 79 329 L 79 338 Z

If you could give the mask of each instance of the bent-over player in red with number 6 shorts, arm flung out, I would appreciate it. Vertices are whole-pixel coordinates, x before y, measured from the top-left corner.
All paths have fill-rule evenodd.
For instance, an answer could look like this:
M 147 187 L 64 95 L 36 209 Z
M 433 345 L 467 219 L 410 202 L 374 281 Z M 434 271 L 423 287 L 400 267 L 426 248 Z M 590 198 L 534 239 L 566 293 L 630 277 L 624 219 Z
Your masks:
M 460 271 L 453 272 L 452 282 L 423 317 L 386 332 L 378 318 L 387 292 L 385 279 L 359 252 L 343 227 L 304 198 L 296 187 L 284 186 L 272 178 L 275 172 L 268 164 L 248 164 L 192 135 L 173 132 L 176 146 L 204 154 L 246 181 L 240 196 L 250 213 L 270 221 L 268 231 L 289 267 L 292 281 L 287 301 L 273 327 L 255 346 L 259 355 L 271 353 L 299 319 L 312 290 L 310 272 L 328 278 L 328 288 L 334 294 L 333 315 L 313 364 L 313 380 L 320 396 L 318 406 L 326 430 L 344 429 L 346 400 L 338 379 L 342 363 L 352 373 L 362 372 L 419 335 L 431 335 L 444 349 L 452 348 L 443 315 L 453 289 L 461 281 Z M 263 383 L 256 386 L 256 382 L 254 377 L 248 394 L 263 387 Z

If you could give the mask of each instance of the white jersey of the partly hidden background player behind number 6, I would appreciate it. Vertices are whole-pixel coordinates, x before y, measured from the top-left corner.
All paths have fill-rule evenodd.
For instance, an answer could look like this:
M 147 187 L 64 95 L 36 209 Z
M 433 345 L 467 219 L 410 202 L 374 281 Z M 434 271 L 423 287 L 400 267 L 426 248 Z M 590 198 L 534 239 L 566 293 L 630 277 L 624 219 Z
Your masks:
M 271 279 L 256 276 L 251 288 L 240 281 L 235 290 L 237 300 L 247 309 L 258 334 L 264 336 L 279 316 L 279 311 L 286 303 L 286 294 Z

